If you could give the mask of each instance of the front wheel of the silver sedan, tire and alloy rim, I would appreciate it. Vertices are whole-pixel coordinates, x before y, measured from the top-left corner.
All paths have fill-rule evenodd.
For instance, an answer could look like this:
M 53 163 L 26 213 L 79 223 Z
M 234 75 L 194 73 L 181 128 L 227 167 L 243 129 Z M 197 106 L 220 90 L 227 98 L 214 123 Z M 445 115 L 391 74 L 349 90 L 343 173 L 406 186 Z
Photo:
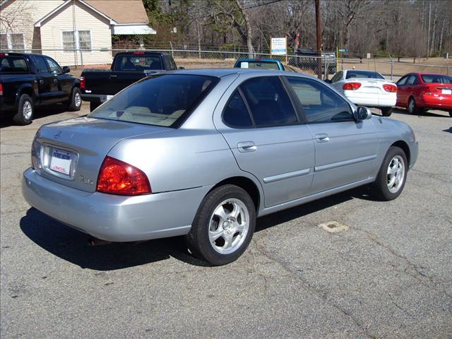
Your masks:
M 376 198 L 390 201 L 400 196 L 405 187 L 407 172 L 408 160 L 405 152 L 402 148 L 391 146 L 373 184 L 373 193 Z

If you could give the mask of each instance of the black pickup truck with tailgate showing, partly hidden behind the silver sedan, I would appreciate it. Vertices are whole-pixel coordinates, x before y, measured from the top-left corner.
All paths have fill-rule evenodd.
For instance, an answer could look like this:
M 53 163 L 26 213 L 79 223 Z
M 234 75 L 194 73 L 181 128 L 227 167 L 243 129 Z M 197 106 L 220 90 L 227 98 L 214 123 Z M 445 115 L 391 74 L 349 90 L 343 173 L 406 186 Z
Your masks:
M 162 71 L 177 69 L 172 56 L 158 52 L 124 52 L 114 56 L 110 69 L 84 69 L 81 74 L 82 100 L 93 111 L 120 90 Z

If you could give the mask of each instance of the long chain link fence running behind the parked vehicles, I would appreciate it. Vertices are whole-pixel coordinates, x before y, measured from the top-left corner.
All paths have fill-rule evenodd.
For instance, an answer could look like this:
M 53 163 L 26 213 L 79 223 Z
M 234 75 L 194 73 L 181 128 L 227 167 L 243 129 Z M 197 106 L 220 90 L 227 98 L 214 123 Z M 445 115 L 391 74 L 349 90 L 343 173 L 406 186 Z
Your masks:
M 75 66 L 76 69 L 103 67 L 111 65 L 112 58 L 119 52 L 164 52 L 172 55 L 178 66 L 186 69 L 199 68 L 230 68 L 234 66 L 237 59 L 254 57 L 257 59 L 278 59 L 287 71 L 308 73 L 316 76 L 321 71 L 322 78 L 331 78 L 337 71 L 343 69 L 363 69 L 377 71 L 386 78 L 396 81 L 400 76 L 411 72 L 431 72 L 452 75 L 452 61 L 450 58 L 430 58 L 420 62 L 419 59 L 388 58 L 357 58 L 341 55 L 335 57 L 334 53 L 325 53 L 321 57 L 282 55 L 275 56 L 268 53 L 254 52 L 251 55 L 245 51 L 222 51 L 222 50 L 199 50 L 199 49 L 174 49 L 174 48 L 124 48 L 124 49 L 90 49 L 88 50 L 62 50 L 62 49 L 39 49 L 14 52 L 33 52 L 46 54 L 56 59 L 61 66 Z M 2 51 L 13 52 L 13 51 Z M 99 55 L 102 54 L 102 57 Z M 78 75 L 78 72 L 73 72 Z

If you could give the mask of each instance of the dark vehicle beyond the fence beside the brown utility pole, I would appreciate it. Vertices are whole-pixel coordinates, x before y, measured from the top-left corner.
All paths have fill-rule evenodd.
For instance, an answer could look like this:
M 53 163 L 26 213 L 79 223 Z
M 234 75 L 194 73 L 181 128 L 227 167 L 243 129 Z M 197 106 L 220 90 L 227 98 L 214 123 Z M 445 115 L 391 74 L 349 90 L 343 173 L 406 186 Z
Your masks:
M 311 48 L 298 48 L 295 50 L 297 57 L 289 59 L 289 65 L 298 67 L 303 71 L 317 73 L 319 66 L 318 60 L 321 57 L 322 74 L 328 69 L 328 74 L 336 73 L 336 54 L 334 52 L 315 52 Z

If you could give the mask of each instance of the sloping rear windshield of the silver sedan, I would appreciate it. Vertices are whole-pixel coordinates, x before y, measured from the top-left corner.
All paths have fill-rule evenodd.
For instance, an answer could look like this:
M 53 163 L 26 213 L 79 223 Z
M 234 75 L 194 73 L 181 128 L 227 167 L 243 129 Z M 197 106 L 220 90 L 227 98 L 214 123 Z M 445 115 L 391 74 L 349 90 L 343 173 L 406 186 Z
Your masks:
M 157 74 L 121 91 L 90 117 L 176 128 L 217 82 L 211 76 Z

